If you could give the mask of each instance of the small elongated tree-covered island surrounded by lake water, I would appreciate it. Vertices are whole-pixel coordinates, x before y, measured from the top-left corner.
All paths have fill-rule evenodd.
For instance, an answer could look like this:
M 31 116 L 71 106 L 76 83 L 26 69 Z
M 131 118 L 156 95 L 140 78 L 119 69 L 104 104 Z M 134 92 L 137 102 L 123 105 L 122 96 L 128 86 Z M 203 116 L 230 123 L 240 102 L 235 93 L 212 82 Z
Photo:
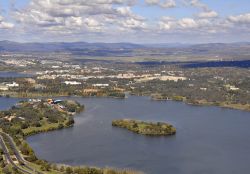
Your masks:
M 128 129 L 137 134 L 147 136 L 168 136 L 176 133 L 176 128 L 163 122 L 145 122 L 132 119 L 113 120 L 112 126 Z

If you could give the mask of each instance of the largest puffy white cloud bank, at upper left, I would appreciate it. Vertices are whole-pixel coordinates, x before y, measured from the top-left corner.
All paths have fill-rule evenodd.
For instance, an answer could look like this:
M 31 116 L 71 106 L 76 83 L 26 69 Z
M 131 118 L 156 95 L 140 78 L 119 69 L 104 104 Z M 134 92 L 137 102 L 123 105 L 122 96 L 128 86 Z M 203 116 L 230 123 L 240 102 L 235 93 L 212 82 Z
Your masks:
M 111 32 L 145 28 L 144 18 L 134 14 L 129 5 L 136 0 L 31 0 L 14 13 L 24 28 L 44 32 Z M 117 6 L 114 6 L 116 4 Z M 60 32 L 59 32 L 60 33 Z

